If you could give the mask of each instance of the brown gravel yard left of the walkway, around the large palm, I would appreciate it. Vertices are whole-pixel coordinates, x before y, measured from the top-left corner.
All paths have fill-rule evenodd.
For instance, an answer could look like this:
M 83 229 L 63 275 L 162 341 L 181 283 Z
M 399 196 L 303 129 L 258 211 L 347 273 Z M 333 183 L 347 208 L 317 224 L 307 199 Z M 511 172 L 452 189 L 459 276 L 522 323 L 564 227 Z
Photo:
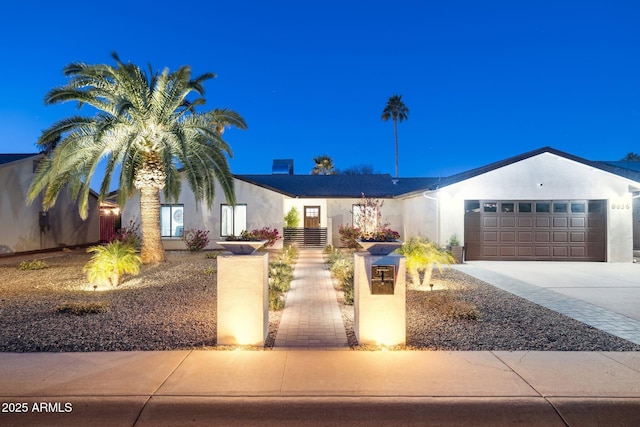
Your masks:
M 48 268 L 18 269 L 35 258 Z M 83 249 L 0 258 L 0 351 L 220 349 L 212 347 L 215 259 L 168 252 L 166 263 L 143 266 L 117 289 L 94 290 L 82 272 L 89 258 Z M 74 307 L 84 312 L 74 314 Z M 270 341 L 279 318 L 270 315 Z

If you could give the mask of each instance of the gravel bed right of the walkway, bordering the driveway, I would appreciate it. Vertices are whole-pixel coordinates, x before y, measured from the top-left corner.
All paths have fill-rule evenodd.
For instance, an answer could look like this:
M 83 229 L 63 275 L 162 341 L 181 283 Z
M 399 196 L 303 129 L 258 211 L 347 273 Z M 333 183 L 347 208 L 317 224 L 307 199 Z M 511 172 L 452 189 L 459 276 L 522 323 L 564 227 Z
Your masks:
M 638 351 L 640 345 L 585 325 L 453 269 L 434 271 L 433 290 L 407 290 L 407 345 L 413 350 Z M 349 345 L 353 306 L 341 303 Z

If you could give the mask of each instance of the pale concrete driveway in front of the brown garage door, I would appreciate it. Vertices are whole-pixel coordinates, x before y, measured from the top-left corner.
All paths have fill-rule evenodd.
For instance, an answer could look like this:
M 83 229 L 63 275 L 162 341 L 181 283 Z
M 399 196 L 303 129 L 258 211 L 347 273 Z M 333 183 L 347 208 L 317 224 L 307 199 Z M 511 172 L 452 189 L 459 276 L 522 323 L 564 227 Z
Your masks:
M 640 264 L 557 261 L 467 261 L 466 264 L 640 321 Z M 460 270 L 465 271 L 464 266 Z M 490 279 L 482 280 L 491 283 Z

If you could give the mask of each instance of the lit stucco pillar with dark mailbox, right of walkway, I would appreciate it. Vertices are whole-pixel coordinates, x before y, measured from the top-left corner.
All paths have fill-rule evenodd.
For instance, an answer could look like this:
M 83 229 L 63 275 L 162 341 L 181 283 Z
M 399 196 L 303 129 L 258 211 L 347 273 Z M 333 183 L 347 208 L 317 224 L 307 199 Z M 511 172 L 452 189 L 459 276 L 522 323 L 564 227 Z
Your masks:
M 391 271 L 394 267 L 392 294 L 380 292 L 380 277 L 372 285 L 376 271 Z M 403 345 L 407 337 L 406 260 L 397 254 L 354 254 L 354 332 L 362 345 Z M 372 268 L 373 267 L 373 268 Z M 381 268 L 378 268 L 381 267 Z M 388 282 L 388 277 L 385 278 Z M 376 289 L 377 288 L 377 289 Z M 389 291 L 387 288 L 385 291 Z

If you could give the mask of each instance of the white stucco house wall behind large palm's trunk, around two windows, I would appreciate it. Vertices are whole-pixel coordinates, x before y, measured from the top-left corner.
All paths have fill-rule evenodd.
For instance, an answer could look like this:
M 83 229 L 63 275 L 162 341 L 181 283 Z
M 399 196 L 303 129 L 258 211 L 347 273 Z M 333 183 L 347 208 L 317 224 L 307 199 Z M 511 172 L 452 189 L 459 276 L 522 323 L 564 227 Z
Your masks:
M 284 218 L 283 196 L 271 190 L 248 184 L 238 179 L 234 180 L 236 203 L 247 205 L 247 230 L 262 227 L 277 228 L 282 236 L 282 222 Z M 167 202 L 164 194 L 160 195 L 160 202 L 184 205 L 184 227 L 209 230 L 208 249 L 220 248 L 215 242 L 220 236 L 220 205 L 227 204 L 224 192 L 216 185 L 216 195 L 211 209 L 203 202 L 197 203 L 188 183 L 182 181 L 182 190 L 178 200 Z M 140 195 L 136 193 L 127 201 L 122 211 L 122 223 L 129 220 L 140 223 Z M 184 242 L 179 237 L 163 238 L 163 245 L 167 250 L 184 250 Z M 282 247 L 282 239 L 278 240 L 274 248 Z

